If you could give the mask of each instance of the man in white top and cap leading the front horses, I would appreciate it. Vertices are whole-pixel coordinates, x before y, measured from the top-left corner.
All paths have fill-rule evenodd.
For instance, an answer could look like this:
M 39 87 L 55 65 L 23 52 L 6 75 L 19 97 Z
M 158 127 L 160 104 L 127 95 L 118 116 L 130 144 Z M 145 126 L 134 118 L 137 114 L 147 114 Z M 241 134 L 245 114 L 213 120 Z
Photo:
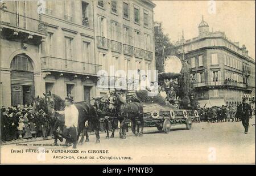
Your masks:
M 65 109 L 63 111 L 56 111 L 56 113 L 64 115 L 65 118 L 65 125 L 62 134 L 66 139 L 65 144 L 73 143 L 73 148 L 76 148 L 79 111 L 73 104 L 73 97 L 70 96 L 65 98 Z

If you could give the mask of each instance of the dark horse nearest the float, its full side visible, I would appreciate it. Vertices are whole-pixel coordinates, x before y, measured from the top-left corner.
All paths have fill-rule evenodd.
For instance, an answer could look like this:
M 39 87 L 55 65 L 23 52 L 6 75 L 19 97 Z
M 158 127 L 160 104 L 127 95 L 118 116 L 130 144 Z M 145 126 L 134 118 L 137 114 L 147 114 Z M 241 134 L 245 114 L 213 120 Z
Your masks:
M 126 131 L 124 128 L 125 122 L 127 119 L 131 121 L 131 131 L 136 136 L 143 135 L 143 127 L 144 127 L 144 115 L 143 115 L 143 106 L 139 102 L 130 102 L 127 103 L 122 100 L 122 97 L 118 95 L 116 91 L 112 93 L 109 97 L 109 109 L 115 110 L 118 113 L 118 118 L 120 123 L 120 136 L 122 139 L 126 138 Z M 141 131 L 139 131 L 138 121 L 141 123 Z M 137 128 L 136 128 L 137 126 Z M 122 133 L 122 134 L 121 134 Z

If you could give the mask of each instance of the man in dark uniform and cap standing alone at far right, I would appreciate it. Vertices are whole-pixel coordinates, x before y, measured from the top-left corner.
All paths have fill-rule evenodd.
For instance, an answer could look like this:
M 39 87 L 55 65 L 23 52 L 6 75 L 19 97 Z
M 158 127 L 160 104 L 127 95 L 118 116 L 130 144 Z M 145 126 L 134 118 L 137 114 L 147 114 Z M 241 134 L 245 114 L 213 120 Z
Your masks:
M 242 100 L 242 104 L 237 106 L 236 117 L 241 119 L 242 125 L 245 128 L 245 134 L 247 134 L 249 128 L 249 119 L 252 115 L 252 111 L 251 106 L 246 103 L 246 97 L 243 97 Z

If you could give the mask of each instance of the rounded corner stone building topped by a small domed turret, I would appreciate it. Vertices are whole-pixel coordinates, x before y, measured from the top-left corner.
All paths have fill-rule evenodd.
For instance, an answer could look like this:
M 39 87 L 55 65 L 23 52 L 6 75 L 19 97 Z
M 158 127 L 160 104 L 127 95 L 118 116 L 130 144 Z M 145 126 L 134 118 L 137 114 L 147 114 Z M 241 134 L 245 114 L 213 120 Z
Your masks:
M 255 61 L 245 45 L 231 42 L 225 32 L 209 32 L 202 18 L 199 36 L 177 42 L 191 65 L 191 80 L 201 106 L 240 104 L 243 96 L 255 97 Z

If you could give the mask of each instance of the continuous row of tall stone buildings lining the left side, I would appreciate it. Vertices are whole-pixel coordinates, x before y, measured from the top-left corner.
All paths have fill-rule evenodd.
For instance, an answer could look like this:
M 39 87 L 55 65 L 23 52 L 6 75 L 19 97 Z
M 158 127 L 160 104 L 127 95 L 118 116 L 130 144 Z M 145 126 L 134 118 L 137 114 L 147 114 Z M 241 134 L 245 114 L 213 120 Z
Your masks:
M 102 69 L 155 70 L 151 1 L 6 1 L 5 6 L 1 105 L 27 104 L 47 91 L 90 101 L 109 92 L 109 86 L 97 88 Z

